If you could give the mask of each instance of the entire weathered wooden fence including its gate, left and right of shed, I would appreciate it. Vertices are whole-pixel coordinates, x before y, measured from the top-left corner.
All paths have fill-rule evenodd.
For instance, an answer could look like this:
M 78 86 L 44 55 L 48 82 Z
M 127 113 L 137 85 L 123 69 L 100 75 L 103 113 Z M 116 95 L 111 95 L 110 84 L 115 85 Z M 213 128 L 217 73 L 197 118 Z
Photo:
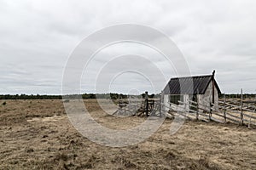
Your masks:
M 163 95 L 162 95 L 163 96 Z M 230 100 L 223 99 L 218 101 L 218 105 L 211 105 L 207 101 L 187 100 L 178 101 L 178 105 L 163 103 L 160 99 L 134 99 L 130 101 L 119 100 L 119 109 L 113 115 L 122 116 L 162 116 L 174 117 L 177 115 L 184 116 L 192 120 L 203 120 L 205 122 L 233 122 L 240 125 L 256 126 L 256 101 Z

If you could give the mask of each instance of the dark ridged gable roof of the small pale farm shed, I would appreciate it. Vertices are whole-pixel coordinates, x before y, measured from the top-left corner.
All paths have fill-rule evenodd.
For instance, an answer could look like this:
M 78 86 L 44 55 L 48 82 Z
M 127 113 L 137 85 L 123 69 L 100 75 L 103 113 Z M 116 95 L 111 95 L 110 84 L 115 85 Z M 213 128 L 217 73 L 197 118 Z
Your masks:
M 205 94 L 207 87 L 212 80 L 212 75 L 196 77 L 176 77 L 171 78 L 164 88 L 164 94 Z M 215 87 L 220 89 L 214 80 Z

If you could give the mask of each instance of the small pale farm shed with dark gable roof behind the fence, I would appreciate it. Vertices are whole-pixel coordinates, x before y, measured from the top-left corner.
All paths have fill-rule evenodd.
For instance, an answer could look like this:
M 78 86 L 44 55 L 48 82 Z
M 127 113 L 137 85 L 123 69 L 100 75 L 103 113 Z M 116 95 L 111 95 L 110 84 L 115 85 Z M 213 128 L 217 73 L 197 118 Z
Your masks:
M 189 100 L 192 100 L 206 111 L 211 105 L 218 108 L 218 94 L 221 92 L 214 75 L 215 71 L 207 76 L 171 78 L 163 91 L 165 105 L 173 110 L 177 105 L 186 105 L 184 107 L 189 109 Z

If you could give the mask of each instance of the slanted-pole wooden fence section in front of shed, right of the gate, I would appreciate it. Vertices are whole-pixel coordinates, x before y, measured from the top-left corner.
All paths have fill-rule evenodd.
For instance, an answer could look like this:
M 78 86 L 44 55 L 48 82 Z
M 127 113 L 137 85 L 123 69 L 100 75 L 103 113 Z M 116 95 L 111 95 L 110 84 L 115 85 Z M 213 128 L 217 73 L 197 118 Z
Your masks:
M 168 103 L 165 105 L 169 113 L 167 116 L 182 115 L 188 119 L 203 120 L 205 122 L 234 122 L 240 125 L 256 125 L 256 107 L 249 105 L 253 102 L 219 101 L 218 105 L 204 105 L 192 100 L 178 101 L 179 105 Z M 244 105 L 246 103 L 247 105 Z M 163 105 L 163 104 L 162 104 Z

